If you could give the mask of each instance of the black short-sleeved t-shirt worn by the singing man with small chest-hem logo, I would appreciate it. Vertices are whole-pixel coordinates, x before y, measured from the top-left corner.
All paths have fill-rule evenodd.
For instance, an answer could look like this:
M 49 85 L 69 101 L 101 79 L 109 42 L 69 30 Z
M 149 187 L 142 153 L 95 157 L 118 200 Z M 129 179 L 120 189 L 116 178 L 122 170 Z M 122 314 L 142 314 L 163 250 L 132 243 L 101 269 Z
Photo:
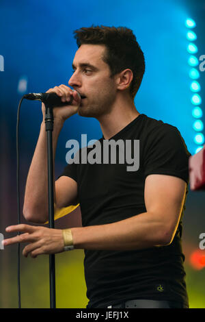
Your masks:
M 133 160 L 138 159 L 135 171 L 127 168 L 131 157 L 124 164 L 117 157 L 118 163 L 113 164 L 110 153 L 109 164 L 103 164 L 102 158 L 101 163 L 76 162 L 68 164 L 61 174 L 77 182 L 83 226 L 113 223 L 146 212 L 144 184 L 150 174 L 180 177 L 187 182 L 188 193 L 191 153 L 176 127 L 139 114 L 110 140 L 136 143 L 131 149 Z M 102 147 L 105 141 L 102 136 L 98 143 Z M 86 153 L 94 147 L 87 148 Z M 116 150 L 119 156 L 120 149 Z M 181 247 L 184 209 L 170 245 L 131 251 L 85 249 L 85 282 L 90 299 L 87 308 L 106 308 L 128 299 L 166 299 L 189 306 Z

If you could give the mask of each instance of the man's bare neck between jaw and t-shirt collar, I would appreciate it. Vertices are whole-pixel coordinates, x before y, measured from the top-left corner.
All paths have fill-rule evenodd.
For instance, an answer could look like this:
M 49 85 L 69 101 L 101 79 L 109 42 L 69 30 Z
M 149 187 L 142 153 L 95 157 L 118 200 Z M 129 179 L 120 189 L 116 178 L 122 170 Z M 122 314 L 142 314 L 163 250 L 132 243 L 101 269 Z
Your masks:
M 105 140 L 108 140 L 121 131 L 126 125 L 139 116 L 134 101 L 130 97 L 116 99 L 109 114 L 98 118 Z

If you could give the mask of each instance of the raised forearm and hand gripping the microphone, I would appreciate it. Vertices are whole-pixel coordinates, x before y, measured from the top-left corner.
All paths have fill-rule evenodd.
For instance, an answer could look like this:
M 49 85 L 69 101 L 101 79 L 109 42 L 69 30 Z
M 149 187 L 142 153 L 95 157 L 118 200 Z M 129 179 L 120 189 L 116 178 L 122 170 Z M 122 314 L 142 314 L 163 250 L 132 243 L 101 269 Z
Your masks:
M 47 92 L 56 92 L 57 95 L 61 96 L 62 101 L 70 101 L 70 95 L 73 96 L 74 100 L 72 106 L 64 106 L 63 108 L 53 109 L 54 116 L 54 127 L 53 127 L 53 169 L 55 169 L 55 151 L 57 147 L 57 140 L 61 128 L 64 125 L 64 121 L 68 117 L 72 116 L 77 112 L 80 99 L 77 92 L 72 92 L 68 86 L 61 85 L 59 87 L 51 88 Z M 44 116 L 44 104 L 42 104 L 42 113 Z M 43 117 L 44 119 L 44 117 Z M 46 144 L 46 131 L 45 124 L 42 121 L 40 126 L 40 135 L 38 143 L 36 145 L 31 166 L 27 176 L 27 183 L 25 187 L 25 200 L 23 205 L 23 215 L 27 221 L 33 223 L 45 223 L 48 220 L 48 174 L 47 174 L 47 144 Z M 53 177 L 55 177 L 53 173 Z M 74 180 L 70 179 L 72 188 L 76 188 L 73 184 Z M 69 184 L 69 182 L 68 182 Z M 74 190 L 77 191 L 77 189 Z M 73 193 L 72 193 L 73 194 Z M 59 194 L 57 194 L 59 195 Z M 54 200 L 56 199 L 56 191 L 54 184 Z M 69 200 L 68 200 L 69 204 Z

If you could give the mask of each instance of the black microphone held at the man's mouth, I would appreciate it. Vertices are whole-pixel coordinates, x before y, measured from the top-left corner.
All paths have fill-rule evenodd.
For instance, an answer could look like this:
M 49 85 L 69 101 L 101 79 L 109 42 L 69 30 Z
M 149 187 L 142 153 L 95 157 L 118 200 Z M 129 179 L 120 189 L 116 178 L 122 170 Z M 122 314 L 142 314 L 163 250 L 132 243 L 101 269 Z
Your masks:
M 31 101 L 42 101 L 42 103 L 49 104 L 52 107 L 70 105 L 73 101 L 73 97 L 71 96 L 70 101 L 62 102 L 61 97 L 55 92 L 30 92 L 29 94 L 25 94 L 23 98 L 30 99 Z

